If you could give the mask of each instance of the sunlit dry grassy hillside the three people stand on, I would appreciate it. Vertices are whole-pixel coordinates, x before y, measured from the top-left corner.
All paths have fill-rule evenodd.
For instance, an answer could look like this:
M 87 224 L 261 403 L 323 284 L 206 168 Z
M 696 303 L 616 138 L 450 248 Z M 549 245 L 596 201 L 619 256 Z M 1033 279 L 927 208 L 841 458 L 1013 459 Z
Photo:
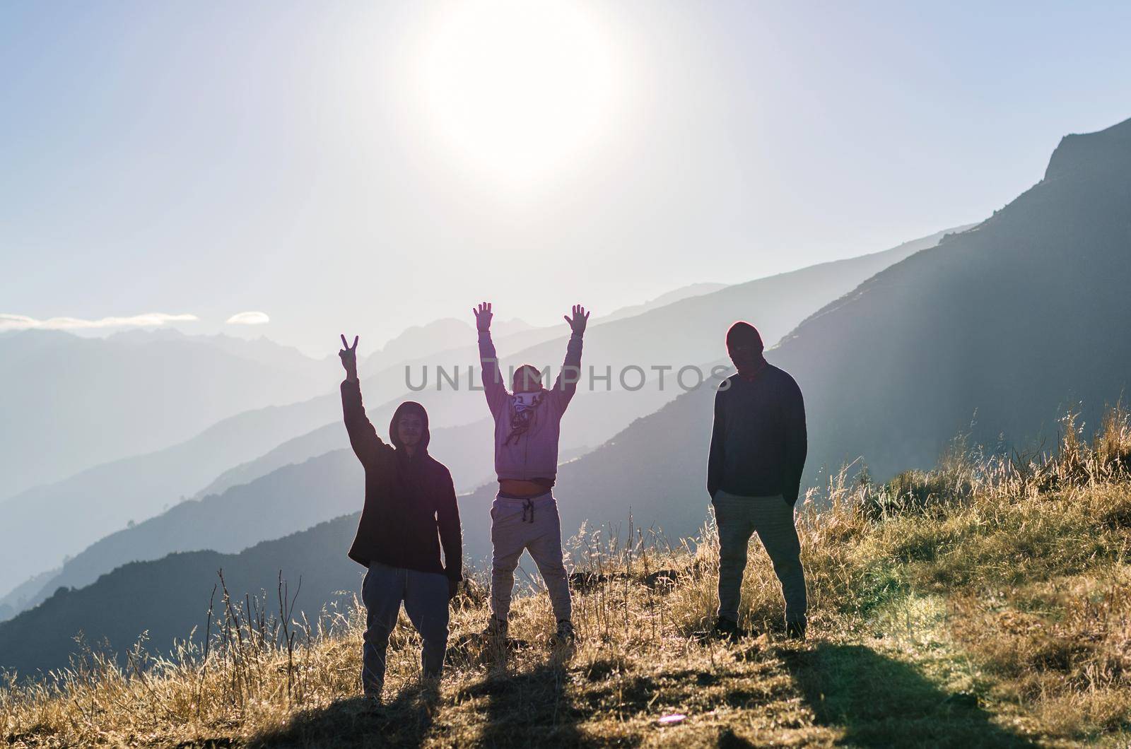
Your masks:
M 806 501 L 802 644 L 776 629 L 779 594 L 760 549 L 744 582 L 751 631 L 725 645 L 696 637 L 715 601 L 710 527 L 675 549 L 644 534 L 585 537 L 575 653 L 538 644 L 544 594 L 516 606 L 512 632 L 530 647 L 481 652 L 467 637 L 486 617 L 473 585 L 456 600 L 439 687 L 418 682 L 418 643 L 402 621 L 387 705 L 371 708 L 357 699 L 355 611 L 280 626 L 239 599 L 216 604 L 207 651 L 138 648 L 124 666 L 87 653 L 54 682 L 10 679 L 0 737 L 28 747 L 1125 746 L 1131 429 L 1115 415 L 1090 446 L 1070 421 L 1064 434 L 1054 459 L 955 449 L 884 485 L 834 482 L 828 509 Z

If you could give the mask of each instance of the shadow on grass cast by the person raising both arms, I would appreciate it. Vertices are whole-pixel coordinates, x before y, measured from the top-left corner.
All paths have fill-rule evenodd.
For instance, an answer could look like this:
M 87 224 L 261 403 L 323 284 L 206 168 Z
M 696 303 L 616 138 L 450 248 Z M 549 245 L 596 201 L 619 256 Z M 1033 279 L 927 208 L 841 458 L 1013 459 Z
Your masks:
M 494 673 L 465 690 L 486 697 L 486 724 L 477 744 L 486 747 L 598 747 L 582 734 L 582 717 L 567 692 L 564 665 L 551 660 L 519 673 Z

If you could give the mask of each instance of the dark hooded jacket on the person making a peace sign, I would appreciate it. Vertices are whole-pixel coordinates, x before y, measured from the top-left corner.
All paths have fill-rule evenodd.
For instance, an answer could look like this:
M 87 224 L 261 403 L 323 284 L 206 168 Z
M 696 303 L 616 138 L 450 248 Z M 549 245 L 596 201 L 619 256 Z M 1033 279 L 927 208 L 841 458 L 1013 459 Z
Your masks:
M 397 420 L 406 411 L 418 413 L 424 423 L 412 457 L 397 434 Z M 428 454 L 424 406 L 413 401 L 397 406 L 389 423 L 391 446 L 381 441 L 365 415 L 356 380 L 342 382 L 342 413 L 349 445 L 365 466 L 365 505 L 349 558 L 365 567 L 375 561 L 461 579 L 464 550 L 456 490 L 448 468 Z M 440 562 L 441 544 L 446 565 Z

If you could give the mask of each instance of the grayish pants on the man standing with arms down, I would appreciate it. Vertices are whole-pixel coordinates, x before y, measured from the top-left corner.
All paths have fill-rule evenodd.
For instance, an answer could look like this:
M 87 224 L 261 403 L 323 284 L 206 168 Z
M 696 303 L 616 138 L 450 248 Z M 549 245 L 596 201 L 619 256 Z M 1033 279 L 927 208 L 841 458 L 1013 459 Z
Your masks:
M 809 603 L 793 506 L 780 494 L 739 497 L 717 490 L 711 507 L 718 526 L 718 615 L 739 620 L 746 548 L 757 533 L 782 583 L 786 622 L 804 621 Z

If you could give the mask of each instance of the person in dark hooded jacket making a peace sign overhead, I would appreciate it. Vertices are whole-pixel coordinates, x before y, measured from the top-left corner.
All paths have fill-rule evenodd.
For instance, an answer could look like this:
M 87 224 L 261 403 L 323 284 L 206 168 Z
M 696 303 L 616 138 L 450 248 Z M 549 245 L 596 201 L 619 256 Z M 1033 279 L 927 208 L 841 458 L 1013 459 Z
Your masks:
M 428 412 L 405 401 L 392 414 L 389 441 L 365 415 L 357 380 L 357 337 L 342 336 L 342 413 L 349 445 L 365 468 L 365 503 L 349 558 L 369 568 L 361 586 L 365 604 L 362 689 L 379 703 L 389 635 L 400 604 L 423 640 L 422 672 L 439 679 L 448 649 L 448 602 L 463 579 L 463 535 L 451 474 L 429 455 Z M 443 560 L 440 550 L 443 549 Z

